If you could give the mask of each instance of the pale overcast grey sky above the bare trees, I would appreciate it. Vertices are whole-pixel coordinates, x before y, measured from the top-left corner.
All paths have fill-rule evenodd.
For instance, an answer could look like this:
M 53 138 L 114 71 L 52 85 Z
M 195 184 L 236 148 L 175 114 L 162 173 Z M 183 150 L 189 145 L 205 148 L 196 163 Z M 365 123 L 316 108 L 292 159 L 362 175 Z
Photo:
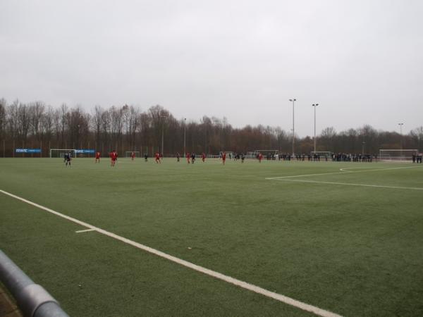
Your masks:
M 423 1 L 0 1 L 0 97 L 312 135 L 423 125 Z

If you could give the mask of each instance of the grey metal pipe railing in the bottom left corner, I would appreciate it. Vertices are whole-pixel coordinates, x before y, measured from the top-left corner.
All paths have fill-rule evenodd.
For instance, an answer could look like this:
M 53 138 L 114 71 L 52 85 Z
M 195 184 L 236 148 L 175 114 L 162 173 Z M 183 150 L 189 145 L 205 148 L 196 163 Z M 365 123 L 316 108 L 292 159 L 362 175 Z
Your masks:
M 35 284 L 0 250 L 0 280 L 15 297 L 23 316 L 69 317 L 41 285 Z

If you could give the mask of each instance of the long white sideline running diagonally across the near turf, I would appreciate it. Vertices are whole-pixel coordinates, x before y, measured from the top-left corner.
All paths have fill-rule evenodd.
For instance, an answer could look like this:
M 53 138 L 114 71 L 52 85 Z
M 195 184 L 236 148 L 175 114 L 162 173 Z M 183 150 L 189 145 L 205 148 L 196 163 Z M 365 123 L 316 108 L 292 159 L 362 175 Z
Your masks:
M 130 244 L 133 247 L 136 247 L 138 249 L 142 249 L 144 251 L 147 251 L 147 252 L 149 252 L 151 254 L 155 254 L 155 255 L 160 256 L 160 257 L 162 257 L 164 259 L 167 259 L 169 261 L 178 263 L 181 266 L 185 266 L 187 268 L 191 268 L 192 270 L 195 270 L 197 272 L 200 272 L 200 273 L 203 273 L 203 274 L 212 276 L 213 278 L 217 278 L 219 280 L 223 280 L 225 282 L 231 283 L 231 284 L 236 285 L 238 287 L 244 288 L 245 290 L 250 290 L 250 291 L 255 292 L 257 294 L 262 294 L 262 295 L 264 295 L 266 297 L 270 297 L 272 299 L 276 299 L 279 302 L 283 302 L 285 304 L 288 304 L 288 305 L 291 305 L 291 306 L 295 306 L 295 307 L 297 307 L 299 309 L 302 309 L 303 311 L 309 311 L 309 312 L 315 313 L 316 315 L 319 315 L 319 316 L 323 316 L 323 317 L 341 317 L 341 315 L 338 315 L 337 313 L 332 313 L 331 311 L 326 311 L 324 309 L 319 309 L 319 307 L 312 306 L 312 305 L 309 305 L 309 304 L 305 304 L 303 302 L 300 302 L 300 301 L 298 301 L 296 299 L 287 297 L 285 295 L 278 294 L 278 293 L 275 293 L 275 292 L 271 292 L 269 290 L 265 290 L 262 287 L 259 287 L 259 286 L 256 286 L 256 285 L 252 285 L 252 284 L 247 283 L 247 282 L 243 282 L 242 280 L 237 280 L 236 278 L 231 278 L 231 276 L 224 275 L 222 273 L 209 270 L 208 268 L 204 268 L 202 266 L 197 266 L 194 263 L 185 261 L 183 259 L 179 259 L 176 256 L 171 256 L 170 254 L 166 254 L 166 253 L 164 253 L 162 251 L 159 251 L 157 249 L 153 249 L 151 247 L 147 247 L 144 244 L 140 244 L 138 242 L 135 242 L 135 241 L 126 239 L 125 237 L 121 237 L 120 235 L 116 235 L 113 232 L 109 232 L 109 231 L 103 230 L 101 228 L 97 228 L 94 225 L 90 225 L 89 223 L 85 223 L 85 222 L 83 222 L 81 220 L 78 220 L 76 218 L 72 218 L 70 216 L 66 216 L 63 213 L 59 213 L 57 211 L 54 211 L 54 210 L 49 209 L 47 207 L 41 206 L 39 204 L 36 204 L 36 203 L 34 203 L 32 201 L 29 201 L 27 199 L 24 199 L 22 197 L 16 196 L 16 195 L 11 194 L 9 192 L 5 192 L 4 190 L 1 190 L 0 189 L 0 192 L 2 192 L 3 194 L 8 195 L 10 197 L 13 197 L 15 199 L 18 199 L 20 201 L 23 201 L 23 202 L 25 202 L 27 204 L 30 204 L 32 206 L 35 206 L 35 207 L 37 207 L 39 209 L 42 209 L 44 211 L 48 211 L 49 213 L 53 213 L 56 216 L 65 218 L 67 220 L 70 220 L 73 223 L 78 223 L 78 225 L 82 225 L 83 227 L 90 228 L 90 229 L 95 230 L 95 231 L 97 231 L 99 233 L 102 233 L 103 235 L 106 235 L 108 237 L 112 237 L 112 238 L 114 238 L 116 240 L 119 240 L 121 242 L 124 242 L 126 244 Z

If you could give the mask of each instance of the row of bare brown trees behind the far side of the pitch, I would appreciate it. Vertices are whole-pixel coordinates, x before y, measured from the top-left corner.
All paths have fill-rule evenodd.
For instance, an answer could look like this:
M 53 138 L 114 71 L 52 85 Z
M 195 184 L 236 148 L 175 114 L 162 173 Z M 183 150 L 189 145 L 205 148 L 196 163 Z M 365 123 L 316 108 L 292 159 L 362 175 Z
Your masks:
M 289 130 L 289 129 L 288 129 Z M 295 135 L 295 152 L 314 150 L 313 137 Z M 95 106 L 90 112 L 80 106 L 61 104 L 53 108 L 42 101 L 8 104 L 0 99 L 0 156 L 15 156 L 16 148 L 95 149 L 106 156 L 140 151 L 164 156 L 188 152 L 219 154 L 219 151 L 246 153 L 257 149 L 292 152 L 291 132 L 269 125 L 233 128 L 226 118 L 203 116 L 199 121 L 175 118 L 162 106 L 141 111 L 134 106 Z M 325 128 L 316 138 L 317 151 L 378 154 L 379 149 L 423 151 L 423 126 L 404 135 L 376 130 L 371 125 L 337 132 Z M 184 148 L 185 145 L 185 148 Z

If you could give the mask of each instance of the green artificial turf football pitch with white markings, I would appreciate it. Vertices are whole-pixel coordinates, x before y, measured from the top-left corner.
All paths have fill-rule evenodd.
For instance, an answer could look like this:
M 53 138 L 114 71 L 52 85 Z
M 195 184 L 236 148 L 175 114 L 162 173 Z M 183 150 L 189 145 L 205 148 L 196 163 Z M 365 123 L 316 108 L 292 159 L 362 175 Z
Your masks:
M 0 159 L 0 189 L 333 313 L 423 316 L 421 164 Z M 312 316 L 1 192 L 0 206 L 0 249 L 71 316 Z

